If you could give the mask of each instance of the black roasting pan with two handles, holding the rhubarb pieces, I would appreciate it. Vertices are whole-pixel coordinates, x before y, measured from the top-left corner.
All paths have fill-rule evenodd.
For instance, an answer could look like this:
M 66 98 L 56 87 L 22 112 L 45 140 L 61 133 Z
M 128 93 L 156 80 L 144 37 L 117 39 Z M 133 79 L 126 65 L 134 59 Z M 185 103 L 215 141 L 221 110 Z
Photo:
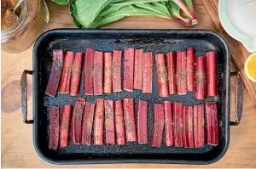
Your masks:
M 89 102 L 96 98 L 123 99 L 134 98 L 136 110 L 138 99 L 148 100 L 148 138 L 149 144 L 128 143 L 124 146 L 104 145 L 85 146 L 72 144 L 57 151 L 48 149 L 49 144 L 49 106 L 74 104 L 78 97 L 68 94 L 57 94 L 55 98 L 44 94 L 52 59 L 53 49 L 67 49 L 73 52 L 84 52 L 85 48 L 95 48 L 99 51 L 112 51 L 125 47 L 144 48 L 153 54 L 169 51 L 195 48 L 195 55 L 203 55 L 207 51 L 218 52 L 218 97 L 205 100 L 195 100 L 194 93 L 183 96 L 176 94 L 169 98 L 160 98 L 153 71 L 153 93 L 143 94 L 141 91 L 121 92 L 104 96 L 84 95 L 81 85 L 79 97 Z M 214 31 L 207 30 L 78 30 L 57 29 L 45 32 L 33 48 L 33 70 L 25 70 L 21 77 L 21 110 L 25 123 L 33 124 L 33 143 L 38 155 L 54 164 L 97 164 L 97 163 L 179 163 L 179 164 L 209 164 L 223 157 L 230 142 L 230 125 L 237 125 L 241 119 L 242 82 L 239 73 L 230 73 L 230 49 L 224 37 Z M 154 59 L 153 59 L 154 60 Z M 27 120 L 26 109 L 26 75 L 32 74 L 33 120 Z M 230 122 L 230 76 L 236 75 L 236 121 Z M 84 75 L 82 75 L 84 76 Z M 82 82 L 83 83 L 83 82 Z M 216 147 L 206 145 L 200 149 L 184 149 L 166 147 L 160 149 L 151 147 L 154 103 L 164 100 L 183 102 L 183 104 L 203 104 L 206 101 L 218 103 L 219 144 Z M 233 104 L 233 103 L 232 103 Z M 92 139 L 93 140 L 93 139 Z

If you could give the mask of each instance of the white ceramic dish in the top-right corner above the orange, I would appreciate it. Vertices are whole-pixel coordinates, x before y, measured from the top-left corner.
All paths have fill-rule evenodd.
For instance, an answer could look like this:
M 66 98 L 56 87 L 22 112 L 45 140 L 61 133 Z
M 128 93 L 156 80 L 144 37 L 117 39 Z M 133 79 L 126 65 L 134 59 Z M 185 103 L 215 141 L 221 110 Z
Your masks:
M 256 52 L 256 0 L 219 0 L 218 16 L 231 37 Z

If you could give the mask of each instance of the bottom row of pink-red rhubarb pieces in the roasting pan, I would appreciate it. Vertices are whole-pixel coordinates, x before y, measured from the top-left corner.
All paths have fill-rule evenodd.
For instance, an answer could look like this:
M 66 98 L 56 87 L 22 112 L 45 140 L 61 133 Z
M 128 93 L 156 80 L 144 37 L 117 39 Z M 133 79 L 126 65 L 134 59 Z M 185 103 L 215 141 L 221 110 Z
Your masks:
M 49 149 L 57 150 L 69 145 L 70 126 L 73 144 L 90 146 L 92 140 L 94 145 L 103 145 L 104 142 L 118 145 L 126 142 L 148 144 L 148 102 L 144 100 L 139 100 L 137 104 L 137 122 L 134 99 L 96 99 L 96 104 L 92 104 L 79 98 L 74 107 L 62 106 L 61 121 L 59 115 L 60 108 L 50 106 Z M 152 133 L 151 145 L 156 148 L 161 147 L 163 135 L 166 146 L 201 148 L 205 146 L 205 139 L 207 144 L 218 145 L 217 105 L 207 102 L 205 105 L 185 106 L 168 101 L 154 104 Z

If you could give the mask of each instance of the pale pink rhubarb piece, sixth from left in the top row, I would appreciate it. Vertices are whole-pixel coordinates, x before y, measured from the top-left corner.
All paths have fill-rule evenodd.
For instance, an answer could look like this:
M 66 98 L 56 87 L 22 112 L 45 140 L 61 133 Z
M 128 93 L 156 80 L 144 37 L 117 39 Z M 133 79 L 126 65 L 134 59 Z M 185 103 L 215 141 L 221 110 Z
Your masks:
M 112 53 L 104 53 L 104 93 L 112 93 Z

